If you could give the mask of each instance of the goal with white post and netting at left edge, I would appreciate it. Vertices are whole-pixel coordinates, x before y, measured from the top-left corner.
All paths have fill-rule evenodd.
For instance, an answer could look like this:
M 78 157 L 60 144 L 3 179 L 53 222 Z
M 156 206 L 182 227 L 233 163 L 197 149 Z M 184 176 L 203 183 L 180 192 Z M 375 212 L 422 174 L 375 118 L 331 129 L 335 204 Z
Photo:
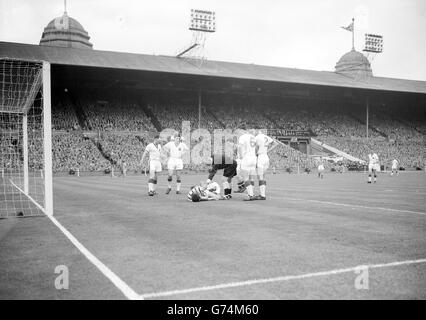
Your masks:
M 0 218 L 52 214 L 50 65 L 0 59 Z

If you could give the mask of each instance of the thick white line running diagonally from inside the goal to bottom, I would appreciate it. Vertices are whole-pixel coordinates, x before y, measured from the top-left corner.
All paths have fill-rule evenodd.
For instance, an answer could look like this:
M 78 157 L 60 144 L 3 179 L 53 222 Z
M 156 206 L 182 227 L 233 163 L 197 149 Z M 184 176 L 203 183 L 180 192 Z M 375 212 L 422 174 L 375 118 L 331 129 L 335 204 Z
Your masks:
M 34 201 L 29 195 L 25 194 L 21 188 L 19 188 L 12 180 L 10 180 L 12 185 L 28 197 L 44 214 L 46 214 L 43 207 L 41 207 L 37 202 Z M 69 232 L 58 220 L 56 220 L 52 215 L 46 214 L 46 216 L 53 222 L 55 226 L 62 231 L 62 233 L 71 241 L 71 243 L 89 260 L 102 274 L 108 278 L 120 291 L 123 295 L 129 300 L 142 300 L 143 298 L 137 294 L 132 288 L 130 288 L 127 283 L 121 280 L 110 268 L 102 263 L 98 258 L 95 257 L 85 246 L 81 244 L 80 241 L 75 238 L 71 232 Z

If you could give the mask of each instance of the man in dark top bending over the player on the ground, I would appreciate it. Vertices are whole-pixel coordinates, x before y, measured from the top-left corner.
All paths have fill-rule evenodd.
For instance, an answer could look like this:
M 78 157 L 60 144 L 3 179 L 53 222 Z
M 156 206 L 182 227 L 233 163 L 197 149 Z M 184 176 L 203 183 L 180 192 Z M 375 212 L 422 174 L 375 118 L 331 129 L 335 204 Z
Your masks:
M 207 183 L 213 180 L 218 170 L 223 170 L 223 194 L 230 196 L 232 193 L 232 178 L 237 175 L 237 161 L 224 153 L 216 153 L 211 157 L 211 165 Z M 238 183 L 238 189 L 238 192 L 244 192 L 244 182 Z

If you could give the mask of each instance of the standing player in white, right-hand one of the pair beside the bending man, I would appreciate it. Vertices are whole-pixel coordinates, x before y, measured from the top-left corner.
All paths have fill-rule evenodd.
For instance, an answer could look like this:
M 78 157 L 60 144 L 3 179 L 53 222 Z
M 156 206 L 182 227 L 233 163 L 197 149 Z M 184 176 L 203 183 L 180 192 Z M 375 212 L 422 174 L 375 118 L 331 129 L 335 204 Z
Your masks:
M 256 200 L 266 200 L 266 171 L 269 168 L 268 148 L 274 144 L 274 139 L 266 134 L 259 132 L 256 135 L 257 148 L 257 176 L 259 179 L 260 195 L 256 196 Z

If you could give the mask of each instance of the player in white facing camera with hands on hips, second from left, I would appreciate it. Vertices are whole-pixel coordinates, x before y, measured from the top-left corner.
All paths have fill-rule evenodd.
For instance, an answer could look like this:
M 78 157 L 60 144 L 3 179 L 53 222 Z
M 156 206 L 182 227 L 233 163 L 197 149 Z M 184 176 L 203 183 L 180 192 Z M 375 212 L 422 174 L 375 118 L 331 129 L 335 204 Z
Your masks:
M 183 170 L 182 156 L 186 151 L 189 150 L 188 146 L 183 143 L 183 140 L 183 137 L 175 137 L 163 148 L 169 157 L 167 160 L 167 170 L 169 171 L 169 176 L 167 178 L 168 186 L 166 194 L 169 194 L 172 190 L 173 173 L 176 173 L 176 193 L 180 194 L 180 187 L 182 183 L 180 172 Z

